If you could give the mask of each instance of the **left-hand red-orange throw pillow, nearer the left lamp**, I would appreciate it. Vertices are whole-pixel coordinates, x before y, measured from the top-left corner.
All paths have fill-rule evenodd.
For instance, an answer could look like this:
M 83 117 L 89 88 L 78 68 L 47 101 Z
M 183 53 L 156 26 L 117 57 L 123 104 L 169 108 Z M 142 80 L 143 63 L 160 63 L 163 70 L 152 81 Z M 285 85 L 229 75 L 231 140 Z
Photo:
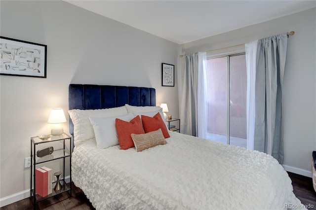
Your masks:
M 115 119 L 115 125 L 118 133 L 118 143 L 120 149 L 128 149 L 134 147 L 131 134 L 145 134 L 139 115 L 130 122 L 121 119 Z

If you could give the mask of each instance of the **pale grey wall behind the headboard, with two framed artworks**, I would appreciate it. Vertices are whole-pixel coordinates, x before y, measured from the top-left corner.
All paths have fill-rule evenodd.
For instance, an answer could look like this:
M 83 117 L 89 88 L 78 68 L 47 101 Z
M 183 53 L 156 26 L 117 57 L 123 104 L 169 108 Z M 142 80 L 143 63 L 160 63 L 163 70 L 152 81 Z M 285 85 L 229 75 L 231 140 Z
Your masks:
M 161 63 L 176 64 L 178 44 L 64 1 L 1 0 L 0 9 L 1 36 L 47 45 L 47 78 L 0 76 L 0 198 L 30 188 L 30 137 L 50 133 L 52 107 L 68 118 L 70 83 L 153 87 L 178 117 L 177 81 L 161 86 Z

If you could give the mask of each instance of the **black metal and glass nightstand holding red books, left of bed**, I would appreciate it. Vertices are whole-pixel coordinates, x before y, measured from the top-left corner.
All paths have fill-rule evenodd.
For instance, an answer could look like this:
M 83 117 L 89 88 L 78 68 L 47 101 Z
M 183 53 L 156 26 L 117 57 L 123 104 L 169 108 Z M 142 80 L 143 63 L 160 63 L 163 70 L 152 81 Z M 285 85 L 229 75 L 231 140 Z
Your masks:
M 45 156 L 40 155 L 38 157 L 37 155 L 37 150 L 39 150 L 38 147 L 44 148 L 44 147 L 51 147 L 52 143 L 56 141 L 62 141 L 61 144 L 58 144 L 58 146 L 55 146 L 53 148 L 53 152 L 51 154 L 47 154 Z M 67 146 L 69 145 L 69 147 Z M 56 147 L 56 148 L 55 148 Z M 68 147 L 68 148 L 67 148 Z M 40 201 L 46 200 L 48 198 L 51 198 L 55 195 L 59 195 L 64 192 L 70 192 L 70 196 L 72 196 L 72 184 L 71 184 L 71 137 L 68 136 L 67 134 L 63 133 L 60 136 L 51 136 L 47 135 L 45 137 L 31 137 L 31 197 L 34 197 L 34 209 L 36 209 L 36 204 L 39 203 Z M 65 182 L 65 161 L 66 158 L 69 157 L 69 175 L 70 175 L 70 187 L 66 185 Z M 63 171 L 61 174 L 63 175 L 62 178 L 60 179 L 60 183 L 62 185 L 62 189 L 55 191 L 54 186 L 56 184 L 56 181 L 52 182 L 52 193 L 48 194 L 45 197 L 41 197 L 39 194 L 36 193 L 36 169 L 43 167 L 43 163 L 47 163 L 50 161 L 56 161 L 56 160 L 62 160 L 63 162 Z M 56 161 L 58 164 L 58 161 Z M 52 180 L 54 180 L 54 174 L 55 171 L 52 173 Z M 34 189 L 32 189 L 32 183 L 34 184 Z

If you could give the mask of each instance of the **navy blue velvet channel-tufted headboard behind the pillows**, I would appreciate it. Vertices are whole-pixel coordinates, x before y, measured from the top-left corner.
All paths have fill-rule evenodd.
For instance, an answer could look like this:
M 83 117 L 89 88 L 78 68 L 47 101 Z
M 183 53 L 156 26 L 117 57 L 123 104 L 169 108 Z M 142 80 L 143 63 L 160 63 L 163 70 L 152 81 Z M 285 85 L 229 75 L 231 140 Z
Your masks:
M 69 110 L 113 108 L 122 105 L 155 106 L 156 90 L 146 87 L 110 85 L 69 85 Z M 74 134 L 74 125 L 69 119 L 69 132 Z

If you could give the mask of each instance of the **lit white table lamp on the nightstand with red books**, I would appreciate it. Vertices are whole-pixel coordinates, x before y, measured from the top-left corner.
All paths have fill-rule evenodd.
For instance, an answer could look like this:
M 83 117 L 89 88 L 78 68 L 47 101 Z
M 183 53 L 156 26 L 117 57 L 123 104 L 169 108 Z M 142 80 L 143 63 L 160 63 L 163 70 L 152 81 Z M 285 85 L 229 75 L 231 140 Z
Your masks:
M 60 123 L 67 122 L 64 110 L 62 108 L 52 108 L 47 123 L 52 123 L 52 136 L 59 136 L 64 133 L 64 129 Z

